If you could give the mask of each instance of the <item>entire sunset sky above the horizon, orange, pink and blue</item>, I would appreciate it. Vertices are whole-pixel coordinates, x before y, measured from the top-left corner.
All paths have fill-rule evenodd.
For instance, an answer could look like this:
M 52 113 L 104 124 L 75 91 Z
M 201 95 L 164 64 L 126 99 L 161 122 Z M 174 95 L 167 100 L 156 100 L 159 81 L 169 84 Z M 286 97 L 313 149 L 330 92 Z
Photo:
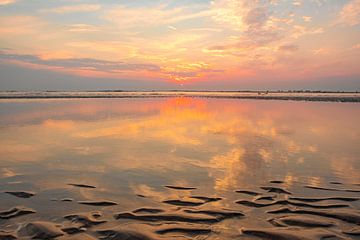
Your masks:
M 0 90 L 360 90 L 360 0 L 0 0 Z

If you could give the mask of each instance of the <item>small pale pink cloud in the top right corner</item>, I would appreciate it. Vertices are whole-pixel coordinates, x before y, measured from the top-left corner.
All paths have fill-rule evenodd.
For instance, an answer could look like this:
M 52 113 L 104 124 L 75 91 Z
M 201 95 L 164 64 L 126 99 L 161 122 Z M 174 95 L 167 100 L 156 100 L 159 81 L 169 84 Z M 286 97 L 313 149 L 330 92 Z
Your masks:
M 339 23 L 350 26 L 360 23 L 360 0 L 351 0 L 341 10 Z

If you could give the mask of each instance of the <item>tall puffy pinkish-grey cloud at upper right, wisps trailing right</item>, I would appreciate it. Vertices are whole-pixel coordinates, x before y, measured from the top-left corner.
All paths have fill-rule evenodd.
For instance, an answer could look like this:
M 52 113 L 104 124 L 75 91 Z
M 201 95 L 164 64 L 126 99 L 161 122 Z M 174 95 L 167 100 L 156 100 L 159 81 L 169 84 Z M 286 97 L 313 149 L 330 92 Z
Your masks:
M 302 2 L 294 1 L 293 4 L 299 6 Z M 274 8 L 276 5 L 279 5 L 278 1 L 214 0 L 212 2 L 214 21 L 239 33 L 236 33 L 238 36 L 235 37 L 235 41 L 212 45 L 205 52 L 212 52 L 217 56 L 226 54 L 242 58 L 244 54 L 247 56 L 266 55 L 268 54 L 266 52 L 272 54 L 276 50 L 289 52 L 294 51 L 295 48 L 283 46 L 287 42 L 305 35 L 324 32 L 321 27 L 295 24 L 295 15 L 293 13 L 289 15 L 280 8 Z M 286 14 L 289 16 L 284 17 Z M 311 17 L 304 16 L 303 20 L 309 22 Z

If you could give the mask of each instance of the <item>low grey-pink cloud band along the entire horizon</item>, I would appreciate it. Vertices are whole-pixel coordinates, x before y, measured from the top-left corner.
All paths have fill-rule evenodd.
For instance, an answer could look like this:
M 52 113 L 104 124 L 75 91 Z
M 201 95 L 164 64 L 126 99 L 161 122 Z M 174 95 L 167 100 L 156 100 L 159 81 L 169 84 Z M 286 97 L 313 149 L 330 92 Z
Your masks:
M 299 79 L 283 81 L 276 75 L 268 74 L 268 79 L 239 81 L 189 81 L 185 86 L 168 81 L 145 81 L 133 79 L 90 78 L 74 76 L 45 69 L 29 69 L 0 61 L 0 90 L 41 91 L 41 90 L 344 90 L 359 91 L 360 76 L 324 77 L 320 79 Z M 266 81 L 265 81 L 266 80 Z

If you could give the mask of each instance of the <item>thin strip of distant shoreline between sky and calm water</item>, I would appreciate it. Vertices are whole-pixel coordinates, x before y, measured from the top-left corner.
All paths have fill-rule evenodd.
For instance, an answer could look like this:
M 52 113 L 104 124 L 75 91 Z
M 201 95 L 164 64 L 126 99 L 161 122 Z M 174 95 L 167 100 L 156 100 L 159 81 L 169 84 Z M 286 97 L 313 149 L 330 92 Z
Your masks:
M 91 99 L 91 98 L 225 98 L 286 101 L 360 102 L 360 93 L 350 92 L 197 92 L 197 91 L 93 91 L 93 92 L 0 92 L 0 99 Z

